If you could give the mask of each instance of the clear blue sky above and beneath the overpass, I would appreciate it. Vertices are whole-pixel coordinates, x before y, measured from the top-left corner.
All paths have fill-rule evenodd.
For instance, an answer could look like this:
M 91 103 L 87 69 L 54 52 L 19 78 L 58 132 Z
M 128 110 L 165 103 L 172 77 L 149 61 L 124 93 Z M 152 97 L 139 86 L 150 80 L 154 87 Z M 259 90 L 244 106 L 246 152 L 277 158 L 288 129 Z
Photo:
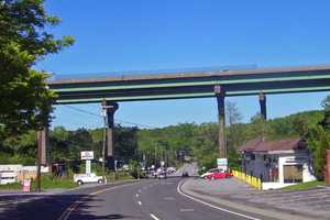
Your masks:
M 63 22 L 52 30 L 76 44 L 48 56 L 38 69 L 55 75 L 177 69 L 227 65 L 330 64 L 330 1 L 48 0 Z M 270 118 L 320 109 L 327 92 L 267 96 Z M 244 121 L 257 97 L 229 98 Z M 78 108 L 99 113 L 98 105 Z M 56 107 L 53 125 L 101 125 L 98 117 Z M 120 103 L 117 119 L 153 127 L 217 121 L 216 100 Z

